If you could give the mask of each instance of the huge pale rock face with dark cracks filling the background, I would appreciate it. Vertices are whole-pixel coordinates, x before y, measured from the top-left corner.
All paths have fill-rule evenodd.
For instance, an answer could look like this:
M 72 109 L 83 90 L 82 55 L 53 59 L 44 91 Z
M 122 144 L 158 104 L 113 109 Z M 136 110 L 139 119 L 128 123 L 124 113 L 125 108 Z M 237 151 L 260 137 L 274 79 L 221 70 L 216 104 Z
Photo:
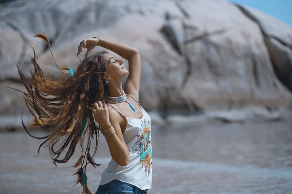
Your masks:
M 269 111 L 292 102 L 292 27 L 221 0 L 35 0 L 0 5 L 0 115 L 25 108 L 16 62 L 37 51 L 45 73 L 76 68 L 79 42 L 101 36 L 136 47 L 142 58 L 140 101 L 164 117 L 249 106 Z M 28 44 L 28 45 L 27 45 Z M 101 48 L 96 48 L 96 50 Z M 84 53 L 83 53 L 84 54 Z

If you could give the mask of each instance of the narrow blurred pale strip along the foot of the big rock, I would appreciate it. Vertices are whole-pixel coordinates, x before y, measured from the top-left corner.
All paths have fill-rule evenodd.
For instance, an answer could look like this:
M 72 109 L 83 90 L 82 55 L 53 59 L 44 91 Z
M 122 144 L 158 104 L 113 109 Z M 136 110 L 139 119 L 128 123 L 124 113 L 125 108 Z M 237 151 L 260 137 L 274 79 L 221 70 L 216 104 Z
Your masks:
M 280 109 L 269 111 L 264 108 L 240 108 L 231 111 L 208 111 L 205 113 L 178 114 L 170 113 L 163 118 L 158 111 L 149 111 L 151 124 L 155 126 L 168 126 L 174 124 L 228 124 L 228 123 L 266 123 L 266 122 L 292 122 L 292 111 Z M 23 122 L 28 123 L 33 119 L 32 115 L 23 115 Z M 35 130 L 42 130 L 34 127 Z M 33 128 L 29 128 L 30 130 Z M 21 115 L 0 116 L 1 131 L 23 130 Z

